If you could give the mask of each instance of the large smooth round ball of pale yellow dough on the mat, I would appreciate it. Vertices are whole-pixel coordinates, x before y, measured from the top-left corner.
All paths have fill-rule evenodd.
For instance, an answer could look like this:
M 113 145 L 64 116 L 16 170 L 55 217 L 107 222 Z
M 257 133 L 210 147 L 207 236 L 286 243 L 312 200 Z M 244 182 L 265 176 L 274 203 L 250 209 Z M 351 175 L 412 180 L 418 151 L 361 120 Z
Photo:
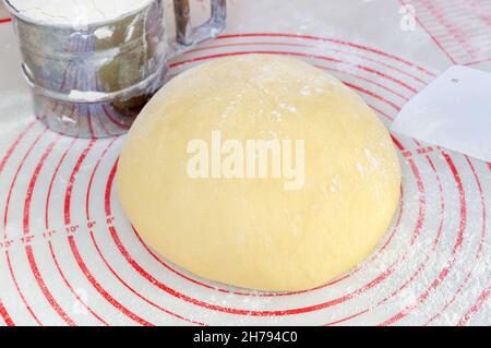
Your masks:
M 304 140 L 304 185 L 193 179 L 190 140 Z M 123 209 L 157 252 L 219 283 L 302 290 L 376 247 L 400 193 L 378 116 L 324 71 L 285 57 L 221 58 L 171 80 L 129 132 L 117 172 Z

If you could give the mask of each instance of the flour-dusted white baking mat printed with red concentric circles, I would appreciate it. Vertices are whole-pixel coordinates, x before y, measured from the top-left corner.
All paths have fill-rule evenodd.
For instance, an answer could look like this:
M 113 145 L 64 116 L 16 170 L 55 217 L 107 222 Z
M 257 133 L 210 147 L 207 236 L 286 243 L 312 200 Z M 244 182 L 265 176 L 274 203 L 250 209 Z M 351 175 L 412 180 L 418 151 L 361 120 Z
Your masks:
M 228 7 L 226 33 L 175 60 L 172 74 L 224 56 L 294 56 L 338 76 L 388 127 L 454 61 L 489 69 L 481 62 L 489 51 L 474 39 L 490 33 L 489 1 L 235 0 Z M 446 16 L 452 7 L 468 10 L 460 22 Z M 205 17 L 207 1 L 194 1 L 193 11 Z M 445 20 L 436 15 L 433 25 L 429 13 Z M 309 291 L 214 284 L 155 254 L 131 228 L 113 188 L 123 137 L 69 139 L 34 120 L 4 22 L 0 324 L 491 324 L 490 164 L 394 135 L 400 207 L 363 264 Z M 442 23 L 459 29 L 443 32 Z

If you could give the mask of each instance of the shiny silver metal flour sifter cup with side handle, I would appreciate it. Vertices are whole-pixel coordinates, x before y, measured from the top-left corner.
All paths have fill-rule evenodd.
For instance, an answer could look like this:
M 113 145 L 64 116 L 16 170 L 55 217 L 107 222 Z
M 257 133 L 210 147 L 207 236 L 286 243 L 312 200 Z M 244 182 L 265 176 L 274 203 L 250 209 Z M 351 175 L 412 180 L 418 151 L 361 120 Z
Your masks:
M 5 4 L 36 117 L 51 130 L 77 137 L 125 133 L 164 84 L 167 59 L 225 27 L 225 0 L 212 1 L 212 19 L 197 28 L 189 26 L 188 0 L 176 0 L 178 43 L 170 45 L 161 0 L 112 21 L 84 25 L 36 23 L 8 0 Z

